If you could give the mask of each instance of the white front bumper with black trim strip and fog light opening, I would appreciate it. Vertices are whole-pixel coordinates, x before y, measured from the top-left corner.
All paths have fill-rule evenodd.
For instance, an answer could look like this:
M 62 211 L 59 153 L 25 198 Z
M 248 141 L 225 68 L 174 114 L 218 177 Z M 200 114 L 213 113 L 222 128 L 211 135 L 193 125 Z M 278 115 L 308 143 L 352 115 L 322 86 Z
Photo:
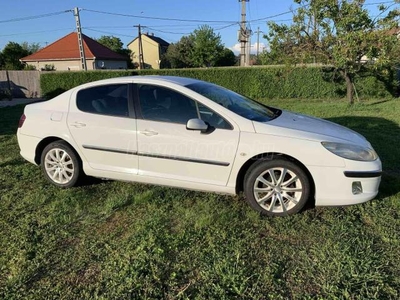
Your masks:
M 348 162 L 346 168 L 309 168 L 315 183 L 316 206 L 343 206 L 369 201 L 376 197 L 381 182 L 382 164 Z M 357 171 L 354 171 L 357 170 Z M 362 186 L 362 192 L 353 193 L 353 183 Z

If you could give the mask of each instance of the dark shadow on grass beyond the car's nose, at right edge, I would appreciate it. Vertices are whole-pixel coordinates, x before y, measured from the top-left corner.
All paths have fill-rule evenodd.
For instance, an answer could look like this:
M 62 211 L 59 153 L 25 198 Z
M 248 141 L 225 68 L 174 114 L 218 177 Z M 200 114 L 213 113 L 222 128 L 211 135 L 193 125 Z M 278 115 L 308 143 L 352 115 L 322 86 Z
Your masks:
M 400 127 L 387 119 L 377 117 L 343 116 L 328 121 L 346 126 L 362 134 L 378 153 L 383 166 L 379 197 L 400 192 Z

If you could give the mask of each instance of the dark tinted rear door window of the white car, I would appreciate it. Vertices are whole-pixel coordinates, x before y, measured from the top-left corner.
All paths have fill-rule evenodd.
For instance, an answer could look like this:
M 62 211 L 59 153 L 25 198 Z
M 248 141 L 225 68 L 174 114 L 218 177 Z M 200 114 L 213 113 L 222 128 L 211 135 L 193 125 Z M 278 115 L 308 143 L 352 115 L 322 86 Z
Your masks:
M 81 90 L 76 96 L 76 105 L 88 113 L 127 117 L 128 85 L 101 85 Z

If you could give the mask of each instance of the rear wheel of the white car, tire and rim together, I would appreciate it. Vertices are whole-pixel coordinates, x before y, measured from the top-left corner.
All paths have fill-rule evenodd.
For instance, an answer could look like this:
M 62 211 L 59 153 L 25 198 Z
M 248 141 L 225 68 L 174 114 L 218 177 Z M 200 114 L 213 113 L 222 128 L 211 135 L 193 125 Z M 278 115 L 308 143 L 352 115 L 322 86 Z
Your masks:
M 46 179 L 61 188 L 77 185 L 83 174 L 78 154 L 64 141 L 56 141 L 47 145 L 42 152 L 40 161 Z

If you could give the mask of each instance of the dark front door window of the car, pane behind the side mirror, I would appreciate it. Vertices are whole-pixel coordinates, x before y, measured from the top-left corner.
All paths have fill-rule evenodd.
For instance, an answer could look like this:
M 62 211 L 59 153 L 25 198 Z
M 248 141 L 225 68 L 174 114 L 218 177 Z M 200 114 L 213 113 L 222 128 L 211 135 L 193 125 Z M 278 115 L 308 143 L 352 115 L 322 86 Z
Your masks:
M 140 85 L 139 101 L 145 120 L 186 124 L 190 119 L 198 118 L 192 99 L 167 88 Z

